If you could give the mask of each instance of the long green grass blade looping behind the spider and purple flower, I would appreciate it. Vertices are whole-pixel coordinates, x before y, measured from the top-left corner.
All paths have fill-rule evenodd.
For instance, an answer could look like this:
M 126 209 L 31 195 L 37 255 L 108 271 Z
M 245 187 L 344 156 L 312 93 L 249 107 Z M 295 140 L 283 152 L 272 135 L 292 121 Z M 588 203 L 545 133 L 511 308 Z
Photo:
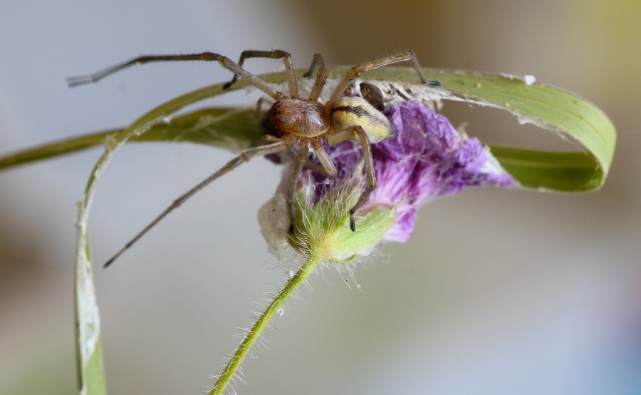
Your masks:
M 328 86 L 342 78 L 348 70 L 330 68 Z M 422 85 L 412 68 L 380 68 L 364 73 L 362 77 L 402 85 L 408 91 L 423 91 L 432 98 L 501 108 L 514 114 L 521 123 L 533 123 L 552 131 L 584 151 L 583 155 L 576 152 L 548 155 L 550 153 L 546 151 L 526 148 L 509 155 L 505 150 L 502 151 L 498 155 L 499 162 L 514 173 L 523 188 L 585 191 L 598 189 L 605 182 L 613 160 L 616 131 L 608 117 L 593 103 L 558 88 L 526 82 L 526 78 L 429 68 L 424 72 L 428 78 L 439 81 L 441 86 L 430 88 Z M 269 83 L 286 81 L 285 73 L 268 74 L 261 78 Z M 299 78 L 303 78 L 302 73 L 299 73 Z M 229 91 L 246 86 L 244 81 L 239 81 Z M 225 92 L 221 84 L 205 87 L 175 98 L 155 108 L 149 115 L 160 120 L 184 106 Z M 168 123 L 152 122 L 146 128 L 146 133 L 132 135 L 131 140 L 192 142 L 238 151 L 255 145 L 261 135 L 254 111 L 250 109 L 205 109 L 176 117 Z M 118 131 L 111 130 L 110 133 Z M 88 148 L 101 143 L 107 135 L 102 133 L 71 139 L 0 158 L 0 170 Z M 517 153 L 524 155 L 523 158 L 518 158 Z M 546 163 L 548 160 L 552 160 L 552 163 Z M 580 170 L 575 168 L 579 165 L 577 161 L 580 162 Z M 569 167 L 564 167 L 564 163 Z M 556 170 L 551 171 L 551 168 Z

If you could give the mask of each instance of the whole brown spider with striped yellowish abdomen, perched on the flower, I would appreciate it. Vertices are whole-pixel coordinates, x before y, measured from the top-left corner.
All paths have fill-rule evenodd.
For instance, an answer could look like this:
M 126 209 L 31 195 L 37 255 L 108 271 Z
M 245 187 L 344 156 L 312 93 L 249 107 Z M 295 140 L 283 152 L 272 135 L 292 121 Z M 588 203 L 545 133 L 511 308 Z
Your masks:
M 287 73 L 289 96 L 286 96 L 284 93 L 269 85 L 269 83 L 266 83 L 261 80 L 261 78 L 258 78 L 246 71 L 242 65 L 247 58 L 282 59 L 285 63 Z M 309 98 L 301 98 L 298 96 L 298 79 L 296 78 L 296 69 L 291 61 L 291 55 L 281 50 L 244 51 L 241 53 L 238 63 L 234 63 L 229 60 L 229 58 L 212 52 L 192 53 L 187 55 L 139 56 L 88 76 L 67 78 L 66 81 L 68 86 L 93 83 L 137 63 L 160 61 L 217 61 L 221 66 L 234 73 L 234 77 L 224 85 L 224 89 L 227 89 L 236 83 L 238 78 L 242 78 L 251 86 L 259 88 L 275 101 L 273 106 L 271 106 L 267 112 L 265 122 L 267 133 L 263 138 L 261 138 L 258 146 L 245 150 L 236 158 L 226 163 L 226 165 L 216 173 L 210 175 L 209 178 L 203 180 L 194 188 L 187 191 L 187 193 L 184 193 L 184 195 L 177 198 L 177 200 L 174 200 L 174 202 L 172 202 L 164 212 L 140 231 L 132 240 L 130 240 L 130 242 L 127 242 L 125 247 L 108 260 L 103 267 L 108 267 L 114 260 L 122 255 L 125 250 L 137 242 L 140 237 L 145 235 L 147 231 L 160 222 L 162 218 L 182 205 L 185 200 L 191 198 L 195 193 L 209 183 L 212 183 L 212 181 L 216 180 L 221 175 L 229 172 L 230 170 L 234 170 L 238 165 L 249 161 L 255 156 L 279 153 L 287 148 L 296 148 L 296 143 L 298 143 L 298 152 L 296 154 L 296 161 L 292 168 L 292 175 L 287 193 L 287 212 L 289 217 L 288 232 L 295 232 L 296 210 L 294 208 L 294 200 L 296 197 L 296 184 L 301 175 L 301 171 L 306 166 L 308 155 L 310 153 L 310 145 L 316 153 L 316 158 L 318 158 L 321 165 L 321 167 L 316 166 L 314 170 L 320 171 L 327 177 L 333 177 L 336 175 L 336 168 L 328 153 L 325 152 L 321 142 L 325 141 L 328 145 L 336 145 L 345 140 L 352 140 L 355 143 L 360 143 L 360 145 L 363 146 L 363 158 L 365 160 L 365 176 L 367 179 L 367 185 L 360 194 L 360 197 L 354 207 L 350 210 L 350 229 L 355 231 L 356 222 L 354 215 L 359 207 L 363 205 L 363 202 L 368 199 L 372 190 L 376 188 L 376 175 L 374 173 L 374 164 L 372 162 L 370 145 L 378 143 L 385 138 L 393 137 L 393 133 L 390 130 L 389 121 L 379 110 L 377 110 L 377 108 L 372 106 L 372 104 L 364 98 L 344 97 L 343 93 L 348 86 L 350 86 L 350 83 L 352 83 L 355 78 L 358 78 L 361 73 L 402 61 L 412 62 L 412 65 L 416 69 L 416 72 L 423 84 L 428 86 L 439 86 L 438 81 L 427 81 L 427 78 L 425 78 L 413 51 L 397 53 L 392 56 L 380 58 L 377 61 L 371 61 L 354 66 L 345 74 L 343 79 L 340 80 L 326 103 L 320 103 L 318 101 L 320 93 L 322 93 L 323 87 L 325 86 L 325 81 L 327 80 L 325 61 L 323 60 L 323 56 L 319 53 L 314 55 L 310 68 L 304 74 L 306 78 L 310 78 L 314 71 L 318 69 L 318 74 L 314 81 Z M 257 113 L 260 113 L 262 101 L 263 99 L 259 100 L 256 111 Z M 380 108 L 380 106 L 377 107 Z

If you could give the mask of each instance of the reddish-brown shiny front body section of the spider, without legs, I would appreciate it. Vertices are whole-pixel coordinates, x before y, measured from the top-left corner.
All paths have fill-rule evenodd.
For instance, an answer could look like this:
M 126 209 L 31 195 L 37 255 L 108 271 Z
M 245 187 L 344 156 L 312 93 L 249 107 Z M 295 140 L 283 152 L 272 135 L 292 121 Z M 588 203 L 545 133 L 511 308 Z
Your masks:
M 286 98 L 271 106 L 267 126 L 274 132 L 316 137 L 330 128 L 330 115 L 323 104 L 301 98 Z

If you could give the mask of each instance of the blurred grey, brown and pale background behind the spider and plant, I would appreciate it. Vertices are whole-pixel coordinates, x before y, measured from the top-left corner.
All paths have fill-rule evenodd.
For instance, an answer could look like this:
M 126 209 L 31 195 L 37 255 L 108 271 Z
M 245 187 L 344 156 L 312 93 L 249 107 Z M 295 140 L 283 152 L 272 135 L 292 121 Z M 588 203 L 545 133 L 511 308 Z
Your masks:
M 239 394 L 640 394 L 641 3 L 544 1 L 0 2 L 0 155 L 120 127 L 217 65 L 64 78 L 140 54 L 282 48 L 352 65 L 412 48 L 423 66 L 533 74 L 590 99 L 619 138 L 602 190 L 468 189 L 420 212 L 414 237 L 289 304 Z M 276 61 L 246 63 L 256 73 Z M 243 93 L 211 104 L 253 103 Z M 501 111 L 446 103 L 486 143 L 567 148 Z M 75 202 L 100 148 L 0 173 L 0 394 L 75 389 Z M 98 184 L 93 256 L 108 259 L 231 158 L 127 145 Z M 281 170 L 257 159 L 96 270 L 110 394 L 199 394 L 283 282 L 256 212 Z

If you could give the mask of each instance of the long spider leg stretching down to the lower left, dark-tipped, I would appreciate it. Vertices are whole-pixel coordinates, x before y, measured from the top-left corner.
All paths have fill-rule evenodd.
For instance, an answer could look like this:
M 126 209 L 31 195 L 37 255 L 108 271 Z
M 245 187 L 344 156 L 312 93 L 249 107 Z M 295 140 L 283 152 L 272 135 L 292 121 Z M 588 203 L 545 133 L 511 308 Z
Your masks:
M 221 175 L 224 175 L 225 173 L 228 173 L 230 170 L 234 170 L 241 163 L 249 162 L 249 160 L 251 158 L 254 158 L 255 156 L 266 155 L 266 154 L 269 154 L 269 153 L 278 153 L 278 152 L 280 152 L 282 150 L 286 150 L 286 148 L 288 148 L 290 144 L 291 143 L 289 142 L 289 140 L 279 140 L 278 142 L 272 143 L 270 145 L 261 145 L 259 147 L 249 148 L 249 150 L 245 150 L 243 153 L 241 153 L 240 155 L 236 156 L 236 158 L 234 158 L 234 159 L 230 160 L 229 162 L 227 162 L 226 165 L 224 165 L 216 173 L 210 175 L 208 178 L 203 180 L 201 183 L 196 185 L 194 188 L 188 190 L 187 193 L 184 193 L 184 195 L 182 195 L 180 198 L 177 198 L 176 200 L 174 200 L 174 202 L 172 202 L 172 205 L 167 207 L 165 209 L 165 211 L 163 211 L 160 215 L 158 215 L 158 217 L 156 217 L 155 220 L 150 222 L 150 224 L 147 225 L 145 227 L 145 229 L 140 231 L 132 240 L 127 242 L 125 247 L 120 249 L 120 251 L 118 251 L 113 257 L 111 257 L 111 259 L 108 260 L 105 263 L 105 265 L 103 265 L 103 267 L 108 267 L 109 265 L 111 265 L 111 263 L 113 261 L 115 261 L 118 257 L 120 257 L 120 255 L 122 255 L 123 252 L 125 252 L 127 249 L 129 249 L 129 247 L 134 245 L 134 243 L 137 242 L 140 239 L 140 237 L 145 235 L 145 233 L 147 233 L 152 227 L 154 227 L 158 222 L 160 222 L 160 220 L 162 220 L 164 217 L 166 217 L 167 214 L 169 214 L 173 210 L 177 209 L 187 199 L 191 198 L 199 190 L 202 190 L 202 188 L 204 188 L 207 185 L 209 185 L 209 183 L 212 183 L 212 181 L 216 180 Z

